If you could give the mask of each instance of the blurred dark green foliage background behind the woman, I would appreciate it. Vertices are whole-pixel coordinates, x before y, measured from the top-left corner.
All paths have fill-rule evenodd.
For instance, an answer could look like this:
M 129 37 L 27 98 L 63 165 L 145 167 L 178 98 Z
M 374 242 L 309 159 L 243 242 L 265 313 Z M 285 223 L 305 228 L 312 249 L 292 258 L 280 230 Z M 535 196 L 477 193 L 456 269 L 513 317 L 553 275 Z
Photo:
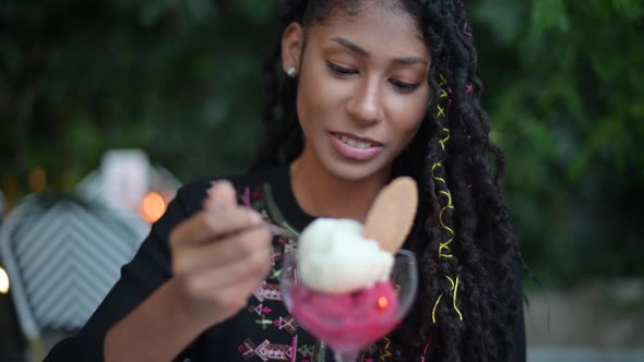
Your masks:
M 468 7 L 482 102 L 506 153 L 511 217 L 534 275 L 529 358 L 644 360 L 644 1 Z M 107 208 L 141 234 L 180 183 L 242 172 L 260 136 L 260 71 L 278 38 L 277 8 L 0 1 L 0 217 L 51 197 L 104 210 L 120 182 L 109 179 L 124 172 L 110 168 L 116 157 L 132 165 L 136 191 Z M 34 348 L 47 350 L 34 336 L 47 328 L 24 333 L 3 270 L 0 360 L 34 359 Z

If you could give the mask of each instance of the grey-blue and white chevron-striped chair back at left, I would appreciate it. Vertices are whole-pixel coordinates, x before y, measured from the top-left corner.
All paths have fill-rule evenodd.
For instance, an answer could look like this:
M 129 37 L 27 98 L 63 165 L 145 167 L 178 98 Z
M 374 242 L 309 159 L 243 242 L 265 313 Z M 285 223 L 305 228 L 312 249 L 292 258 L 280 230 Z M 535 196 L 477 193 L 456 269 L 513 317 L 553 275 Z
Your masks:
M 77 330 L 132 258 L 140 232 L 108 209 L 60 200 L 35 204 L 11 248 L 40 330 Z

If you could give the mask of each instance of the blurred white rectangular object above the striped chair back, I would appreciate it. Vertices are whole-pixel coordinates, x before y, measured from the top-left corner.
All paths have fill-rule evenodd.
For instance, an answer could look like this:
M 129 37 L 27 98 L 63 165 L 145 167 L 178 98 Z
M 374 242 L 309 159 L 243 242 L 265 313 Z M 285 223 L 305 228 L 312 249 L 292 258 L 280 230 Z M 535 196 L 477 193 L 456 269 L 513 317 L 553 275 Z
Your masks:
M 105 201 L 111 207 L 139 213 L 150 189 L 150 160 L 140 149 L 112 149 L 100 165 Z

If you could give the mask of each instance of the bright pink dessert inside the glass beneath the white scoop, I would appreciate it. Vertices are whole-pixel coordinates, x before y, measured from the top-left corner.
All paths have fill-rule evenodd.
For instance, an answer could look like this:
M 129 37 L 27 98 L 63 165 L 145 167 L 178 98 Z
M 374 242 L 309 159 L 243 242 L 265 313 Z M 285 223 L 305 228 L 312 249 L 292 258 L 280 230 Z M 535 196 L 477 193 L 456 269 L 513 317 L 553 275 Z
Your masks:
M 391 281 L 349 294 L 321 293 L 300 283 L 294 288 L 291 298 L 290 314 L 336 351 L 362 349 L 401 322 Z

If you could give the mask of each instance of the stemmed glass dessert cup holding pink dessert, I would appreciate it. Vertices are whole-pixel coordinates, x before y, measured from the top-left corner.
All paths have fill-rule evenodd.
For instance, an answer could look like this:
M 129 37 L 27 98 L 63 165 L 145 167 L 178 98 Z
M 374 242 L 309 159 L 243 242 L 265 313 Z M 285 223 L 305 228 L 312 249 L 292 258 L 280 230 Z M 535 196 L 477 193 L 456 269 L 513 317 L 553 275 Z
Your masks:
M 362 349 L 394 329 L 418 289 L 416 257 L 406 250 L 394 255 L 390 280 L 342 294 L 309 289 L 298 279 L 297 252 L 283 256 L 281 291 L 286 307 L 300 326 L 326 342 L 336 362 L 357 361 Z

